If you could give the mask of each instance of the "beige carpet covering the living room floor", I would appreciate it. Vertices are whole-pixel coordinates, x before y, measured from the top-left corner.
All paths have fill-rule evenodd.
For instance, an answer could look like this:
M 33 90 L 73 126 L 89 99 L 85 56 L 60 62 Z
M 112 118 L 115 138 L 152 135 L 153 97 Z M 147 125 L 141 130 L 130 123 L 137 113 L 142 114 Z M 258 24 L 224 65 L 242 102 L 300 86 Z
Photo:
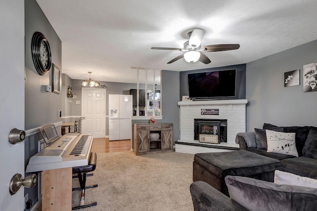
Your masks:
M 116 152 L 97 154 L 94 175 L 87 177 L 85 204 L 98 205 L 81 211 L 193 211 L 189 186 L 193 182 L 194 155 L 158 153 L 136 156 Z M 73 187 L 78 187 L 73 179 Z M 73 191 L 73 207 L 81 191 Z

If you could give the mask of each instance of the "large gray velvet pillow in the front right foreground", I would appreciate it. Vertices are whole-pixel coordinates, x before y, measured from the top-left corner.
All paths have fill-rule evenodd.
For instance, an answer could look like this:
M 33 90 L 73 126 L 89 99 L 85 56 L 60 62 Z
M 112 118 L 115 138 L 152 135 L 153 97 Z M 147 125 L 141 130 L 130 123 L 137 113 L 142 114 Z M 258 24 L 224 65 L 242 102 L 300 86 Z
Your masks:
M 278 185 L 249 177 L 226 176 L 230 199 L 250 211 L 313 211 L 317 188 Z

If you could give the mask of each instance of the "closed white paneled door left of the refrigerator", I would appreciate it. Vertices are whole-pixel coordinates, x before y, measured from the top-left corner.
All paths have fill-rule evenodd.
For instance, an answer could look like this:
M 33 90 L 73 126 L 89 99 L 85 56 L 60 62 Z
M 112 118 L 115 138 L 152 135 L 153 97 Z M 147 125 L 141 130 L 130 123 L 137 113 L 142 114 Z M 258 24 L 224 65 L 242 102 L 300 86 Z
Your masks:
M 82 134 L 106 137 L 106 90 L 82 88 Z

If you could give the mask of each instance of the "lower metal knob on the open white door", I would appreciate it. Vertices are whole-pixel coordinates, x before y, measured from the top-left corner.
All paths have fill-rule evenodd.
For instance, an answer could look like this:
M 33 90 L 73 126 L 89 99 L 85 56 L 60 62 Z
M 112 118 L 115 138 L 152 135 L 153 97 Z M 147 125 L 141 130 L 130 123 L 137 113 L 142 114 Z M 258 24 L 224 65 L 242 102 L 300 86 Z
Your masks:
M 36 174 L 31 174 L 27 177 L 25 177 L 24 179 L 22 179 L 22 175 L 17 173 L 15 174 L 9 184 L 9 191 L 10 194 L 13 195 L 15 194 L 21 187 L 21 185 L 23 185 L 26 188 L 32 188 L 36 185 L 37 182 L 37 176 Z

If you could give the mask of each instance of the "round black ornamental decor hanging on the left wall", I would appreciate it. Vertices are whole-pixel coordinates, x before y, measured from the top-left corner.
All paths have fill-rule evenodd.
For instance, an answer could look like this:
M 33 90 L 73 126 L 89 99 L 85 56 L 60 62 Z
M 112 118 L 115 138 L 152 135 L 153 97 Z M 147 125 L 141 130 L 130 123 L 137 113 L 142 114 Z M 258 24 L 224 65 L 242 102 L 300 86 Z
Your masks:
M 32 37 L 31 51 L 33 63 L 39 75 L 46 75 L 52 65 L 52 54 L 48 40 L 41 32 L 35 32 Z

